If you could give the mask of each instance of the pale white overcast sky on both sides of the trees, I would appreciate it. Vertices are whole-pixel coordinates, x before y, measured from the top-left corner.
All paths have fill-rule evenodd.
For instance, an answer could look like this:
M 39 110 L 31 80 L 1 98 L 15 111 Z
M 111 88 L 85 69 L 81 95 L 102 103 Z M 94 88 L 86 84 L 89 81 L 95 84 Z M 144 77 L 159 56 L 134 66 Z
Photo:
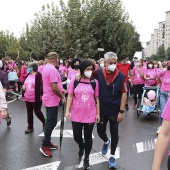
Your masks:
M 26 22 L 34 20 L 34 13 L 51 2 L 59 4 L 59 0 L 0 0 L 0 31 L 9 30 L 19 37 Z M 122 0 L 122 3 L 145 47 L 158 22 L 165 21 L 170 0 Z

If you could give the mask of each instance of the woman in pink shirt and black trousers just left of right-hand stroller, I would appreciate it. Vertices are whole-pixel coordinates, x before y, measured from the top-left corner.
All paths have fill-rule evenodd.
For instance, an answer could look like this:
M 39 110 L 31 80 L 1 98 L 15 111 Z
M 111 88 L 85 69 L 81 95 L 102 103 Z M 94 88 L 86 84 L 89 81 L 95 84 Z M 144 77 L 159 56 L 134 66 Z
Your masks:
M 137 95 L 138 99 L 141 100 L 142 93 L 143 93 L 143 87 L 144 87 L 144 73 L 145 73 L 145 68 L 143 67 L 143 61 L 138 60 L 136 62 L 135 67 L 132 70 L 132 82 L 131 84 L 133 85 L 133 93 L 134 93 L 134 105 L 133 108 L 136 108 L 137 104 Z

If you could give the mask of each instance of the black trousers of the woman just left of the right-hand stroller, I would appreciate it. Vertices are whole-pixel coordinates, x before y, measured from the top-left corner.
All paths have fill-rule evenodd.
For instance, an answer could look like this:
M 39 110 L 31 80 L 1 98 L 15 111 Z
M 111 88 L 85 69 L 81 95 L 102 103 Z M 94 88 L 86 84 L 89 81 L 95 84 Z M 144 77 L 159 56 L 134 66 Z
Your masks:
M 133 97 L 134 97 L 135 104 L 137 104 L 137 94 L 138 94 L 139 100 L 142 97 L 143 87 L 144 87 L 144 84 L 133 85 Z

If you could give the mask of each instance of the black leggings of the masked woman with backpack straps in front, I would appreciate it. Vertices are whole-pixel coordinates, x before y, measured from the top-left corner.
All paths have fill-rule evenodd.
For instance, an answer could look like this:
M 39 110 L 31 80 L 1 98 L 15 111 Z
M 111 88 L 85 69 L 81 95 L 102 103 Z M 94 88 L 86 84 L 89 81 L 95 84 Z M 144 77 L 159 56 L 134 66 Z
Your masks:
M 72 122 L 72 127 L 73 127 L 74 140 L 78 143 L 79 148 L 85 146 L 85 159 L 89 158 L 92 149 L 92 144 L 93 144 L 92 132 L 93 132 L 94 123 Z M 84 127 L 85 143 L 83 142 L 83 137 L 82 137 L 83 127 Z

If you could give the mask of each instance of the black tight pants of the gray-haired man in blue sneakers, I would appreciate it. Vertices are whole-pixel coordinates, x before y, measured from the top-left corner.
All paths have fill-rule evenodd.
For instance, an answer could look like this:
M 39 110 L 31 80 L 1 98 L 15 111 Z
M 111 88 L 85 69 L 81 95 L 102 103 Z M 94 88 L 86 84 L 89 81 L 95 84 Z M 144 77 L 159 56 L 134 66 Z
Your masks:
M 108 137 L 106 134 L 106 127 L 107 127 L 108 121 L 110 123 L 111 154 L 115 155 L 116 147 L 119 141 L 117 115 L 106 116 L 106 115 L 101 114 L 100 122 L 97 124 L 97 132 L 98 132 L 99 137 L 104 142 L 107 142 Z

